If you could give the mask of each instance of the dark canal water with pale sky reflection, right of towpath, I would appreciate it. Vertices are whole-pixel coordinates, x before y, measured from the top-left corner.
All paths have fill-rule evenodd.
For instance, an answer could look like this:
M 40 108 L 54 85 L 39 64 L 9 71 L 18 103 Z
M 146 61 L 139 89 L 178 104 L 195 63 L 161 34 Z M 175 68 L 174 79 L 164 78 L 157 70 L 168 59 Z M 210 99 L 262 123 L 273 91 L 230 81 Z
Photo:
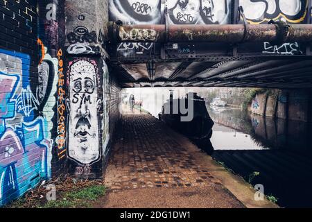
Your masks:
M 239 109 L 211 109 L 216 126 L 214 159 L 246 180 L 262 184 L 282 207 L 312 207 L 311 124 L 249 115 Z

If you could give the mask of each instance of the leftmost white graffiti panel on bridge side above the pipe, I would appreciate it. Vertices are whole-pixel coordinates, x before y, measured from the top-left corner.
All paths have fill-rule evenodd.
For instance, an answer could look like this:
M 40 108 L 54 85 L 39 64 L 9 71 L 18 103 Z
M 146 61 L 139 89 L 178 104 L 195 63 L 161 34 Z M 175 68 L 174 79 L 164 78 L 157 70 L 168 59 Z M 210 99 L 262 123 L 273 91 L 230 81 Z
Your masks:
M 123 24 L 159 24 L 161 0 L 110 0 L 110 21 Z

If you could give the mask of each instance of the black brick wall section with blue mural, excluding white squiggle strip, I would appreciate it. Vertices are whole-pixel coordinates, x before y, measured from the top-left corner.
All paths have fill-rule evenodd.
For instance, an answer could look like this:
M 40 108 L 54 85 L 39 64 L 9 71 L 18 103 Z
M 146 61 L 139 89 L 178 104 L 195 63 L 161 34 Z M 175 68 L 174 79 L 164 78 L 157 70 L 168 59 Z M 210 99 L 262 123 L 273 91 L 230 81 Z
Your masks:
M 47 63 L 38 76 L 35 1 L 0 4 L 0 205 L 51 176 Z M 19 10 L 16 10 L 19 8 Z

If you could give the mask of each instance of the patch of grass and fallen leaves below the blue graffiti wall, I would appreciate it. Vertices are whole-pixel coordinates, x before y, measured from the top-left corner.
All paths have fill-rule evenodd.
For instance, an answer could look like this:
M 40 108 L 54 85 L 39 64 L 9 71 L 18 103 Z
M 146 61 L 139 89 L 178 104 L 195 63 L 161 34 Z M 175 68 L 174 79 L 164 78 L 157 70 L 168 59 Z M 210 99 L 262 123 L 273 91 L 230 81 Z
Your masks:
M 40 185 L 28 191 L 23 197 L 13 201 L 8 208 L 82 208 L 92 207 L 95 200 L 105 195 L 106 187 L 101 180 L 66 180 L 49 181 L 49 185 L 55 186 L 56 200 L 48 201 L 46 194 L 49 189 L 46 185 Z

